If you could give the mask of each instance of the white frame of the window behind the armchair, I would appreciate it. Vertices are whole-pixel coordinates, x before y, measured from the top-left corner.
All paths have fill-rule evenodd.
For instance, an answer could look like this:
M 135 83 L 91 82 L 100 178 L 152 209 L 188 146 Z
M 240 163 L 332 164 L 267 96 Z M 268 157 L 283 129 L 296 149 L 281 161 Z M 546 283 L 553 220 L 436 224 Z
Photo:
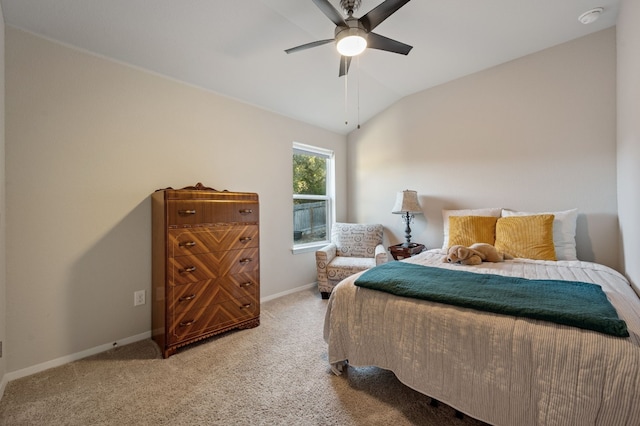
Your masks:
M 332 150 L 326 148 L 320 148 L 317 146 L 306 145 L 299 142 L 293 143 L 293 152 L 292 152 L 292 164 L 293 164 L 293 154 L 305 154 L 305 155 L 315 155 L 324 157 L 327 160 L 327 190 L 326 195 L 306 195 L 306 194 L 293 194 L 294 200 L 324 200 L 327 202 L 327 232 L 326 238 L 324 241 L 315 241 L 313 243 L 304 243 L 304 244 L 296 244 L 293 241 L 293 232 L 291 232 L 291 239 L 293 242 L 292 252 L 294 254 L 297 253 L 306 253 L 310 251 L 318 250 L 329 244 L 331 239 L 331 228 L 335 222 L 336 210 L 335 210 L 335 193 L 336 193 L 336 185 L 335 185 L 335 154 Z M 292 176 L 293 179 L 293 176 Z M 293 224 L 293 210 L 291 211 Z

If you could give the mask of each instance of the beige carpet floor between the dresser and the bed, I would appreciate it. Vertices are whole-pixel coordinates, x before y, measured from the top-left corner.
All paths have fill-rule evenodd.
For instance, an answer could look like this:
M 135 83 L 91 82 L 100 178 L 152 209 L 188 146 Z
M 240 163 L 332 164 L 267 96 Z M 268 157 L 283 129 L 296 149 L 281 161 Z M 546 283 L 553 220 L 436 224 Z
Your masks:
M 482 425 L 379 368 L 327 364 L 315 290 L 262 305 L 261 325 L 163 360 L 151 340 L 10 382 L 1 425 Z

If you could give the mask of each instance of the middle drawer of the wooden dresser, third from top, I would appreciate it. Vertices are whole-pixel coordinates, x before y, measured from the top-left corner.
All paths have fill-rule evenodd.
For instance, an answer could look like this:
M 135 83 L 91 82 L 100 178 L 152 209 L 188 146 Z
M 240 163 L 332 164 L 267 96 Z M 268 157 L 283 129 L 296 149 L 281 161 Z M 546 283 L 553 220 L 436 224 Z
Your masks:
M 170 257 L 167 262 L 169 285 L 185 285 L 228 274 L 257 271 L 260 267 L 257 247 Z

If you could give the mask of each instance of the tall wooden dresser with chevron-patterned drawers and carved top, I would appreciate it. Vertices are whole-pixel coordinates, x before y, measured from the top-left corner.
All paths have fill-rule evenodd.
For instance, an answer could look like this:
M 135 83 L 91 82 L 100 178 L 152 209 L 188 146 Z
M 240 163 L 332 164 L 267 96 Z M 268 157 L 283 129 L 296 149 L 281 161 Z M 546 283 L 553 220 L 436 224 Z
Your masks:
M 258 194 L 198 183 L 152 203 L 152 337 L 182 346 L 260 324 Z

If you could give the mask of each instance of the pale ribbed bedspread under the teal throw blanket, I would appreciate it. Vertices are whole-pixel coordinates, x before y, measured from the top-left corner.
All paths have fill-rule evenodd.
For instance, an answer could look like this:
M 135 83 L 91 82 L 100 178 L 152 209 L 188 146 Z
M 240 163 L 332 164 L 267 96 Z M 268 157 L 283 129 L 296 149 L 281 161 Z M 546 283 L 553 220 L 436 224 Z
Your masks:
M 599 284 L 629 338 L 336 286 L 324 324 L 329 362 L 393 371 L 407 386 L 494 425 L 640 425 L 640 300 L 603 265 L 532 261 L 460 266 L 430 250 L 405 261 Z

